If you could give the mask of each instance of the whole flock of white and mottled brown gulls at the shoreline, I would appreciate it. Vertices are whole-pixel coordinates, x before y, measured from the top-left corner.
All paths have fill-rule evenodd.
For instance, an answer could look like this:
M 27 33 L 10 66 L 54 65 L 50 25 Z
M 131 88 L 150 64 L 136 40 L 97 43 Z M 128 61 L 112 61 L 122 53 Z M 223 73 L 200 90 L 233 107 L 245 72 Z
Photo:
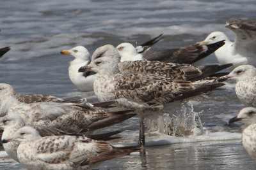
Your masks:
M 78 90 L 93 90 L 99 103 L 18 94 L 12 85 L 0 83 L 4 150 L 27 169 L 90 169 L 104 160 L 143 152 L 146 118 L 157 118 L 200 94 L 223 90 L 223 81 L 231 80 L 246 108 L 229 124 L 247 125 L 243 146 L 256 159 L 256 22 L 231 19 L 226 27 L 236 34 L 234 42 L 223 32 L 212 32 L 204 41 L 183 48 L 151 50 L 164 38 L 160 34 L 135 47 L 100 46 L 91 59 L 84 46 L 62 50 L 75 58 L 68 67 L 72 83 Z M 0 57 L 8 50 L 1 48 Z M 220 64 L 200 66 L 213 52 Z M 95 132 L 132 117 L 140 122 L 138 146 L 111 145 L 109 140 L 118 138 L 120 131 Z

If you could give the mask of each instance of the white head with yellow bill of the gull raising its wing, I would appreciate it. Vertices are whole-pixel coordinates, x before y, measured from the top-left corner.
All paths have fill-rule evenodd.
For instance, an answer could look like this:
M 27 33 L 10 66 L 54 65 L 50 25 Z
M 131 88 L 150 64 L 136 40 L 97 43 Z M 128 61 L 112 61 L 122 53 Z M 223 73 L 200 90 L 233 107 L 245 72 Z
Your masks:
M 201 41 L 200 43 L 204 45 L 211 45 L 213 43 L 217 43 L 218 41 L 229 41 L 228 37 L 224 34 L 224 32 L 221 31 L 214 31 L 207 38 L 204 39 L 204 41 Z

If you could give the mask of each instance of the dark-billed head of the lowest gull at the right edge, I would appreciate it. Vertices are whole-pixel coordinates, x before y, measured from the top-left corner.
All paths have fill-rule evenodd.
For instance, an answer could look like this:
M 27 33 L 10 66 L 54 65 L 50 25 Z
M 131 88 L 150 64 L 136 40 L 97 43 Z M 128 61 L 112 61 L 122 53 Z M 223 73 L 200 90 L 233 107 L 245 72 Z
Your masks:
M 238 115 L 234 118 L 231 118 L 228 124 L 234 122 L 242 122 L 243 124 L 250 125 L 256 123 L 256 108 L 246 107 L 239 111 Z

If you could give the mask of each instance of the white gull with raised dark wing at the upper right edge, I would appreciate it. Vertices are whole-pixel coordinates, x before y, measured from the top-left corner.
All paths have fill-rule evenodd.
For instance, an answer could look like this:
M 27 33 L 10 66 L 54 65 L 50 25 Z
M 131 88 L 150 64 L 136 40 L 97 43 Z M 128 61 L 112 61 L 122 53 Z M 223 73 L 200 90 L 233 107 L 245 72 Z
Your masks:
M 216 50 L 215 55 L 221 64 L 233 63 L 234 66 L 252 64 L 256 66 L 256 22 L 252 20 L 230 19 L 226 27 L 236 34 L 234 42 L 225 33 L 215 31 L 202 41 L 205 45 L 225 40 L 225 45 Z

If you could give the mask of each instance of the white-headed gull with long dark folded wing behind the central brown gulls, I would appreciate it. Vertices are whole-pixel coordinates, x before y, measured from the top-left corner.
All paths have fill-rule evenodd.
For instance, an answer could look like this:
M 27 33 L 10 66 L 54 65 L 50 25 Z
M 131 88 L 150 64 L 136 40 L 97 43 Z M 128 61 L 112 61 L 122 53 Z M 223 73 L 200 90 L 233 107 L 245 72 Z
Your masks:
M 204 45 L 202 43 L 195 43 L 184 48 L 165 49 L 150 51 L 146 53 L 138 53 L 136 48 L 131 43 L 121 43 L 116 46 L 121 62 L 129 60 L 158 60 L 161 62 L 174 62 L 179 64 L 193 64 L 199 66 L 200 62 L 210 55 L 212 52 L 223 46 L 225 43 L 219 41 L 211 45 Z

